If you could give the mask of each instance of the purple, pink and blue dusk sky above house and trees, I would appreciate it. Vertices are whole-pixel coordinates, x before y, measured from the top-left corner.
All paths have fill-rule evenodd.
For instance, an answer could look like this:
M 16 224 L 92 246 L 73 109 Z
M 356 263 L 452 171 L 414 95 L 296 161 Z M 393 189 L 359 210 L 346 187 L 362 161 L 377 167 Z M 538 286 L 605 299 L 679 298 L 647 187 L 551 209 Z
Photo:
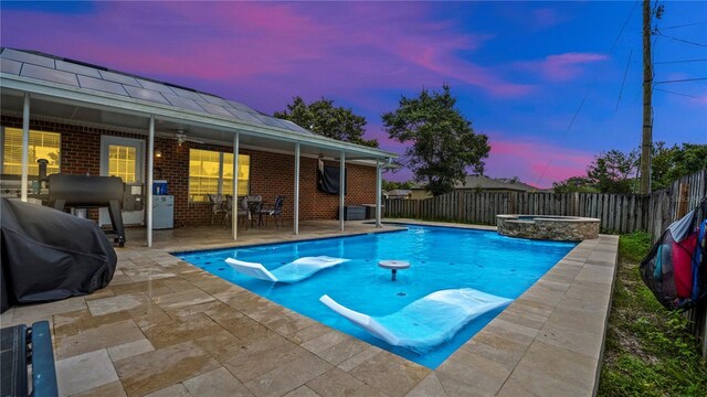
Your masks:
M 400 154 L 405 144 L 389 139 L 381 115 L 449 84 L 488 136 L 485 173 L 549 187 L 585 174 L 603 151 L 641 143 L 641 3 L 3 0 L 0 44 L 266 114 L 295 96 L 334 99 L 366 117 L 366 138 Z M 653 140 L 707 143 L 707 1 L 659 3 Z

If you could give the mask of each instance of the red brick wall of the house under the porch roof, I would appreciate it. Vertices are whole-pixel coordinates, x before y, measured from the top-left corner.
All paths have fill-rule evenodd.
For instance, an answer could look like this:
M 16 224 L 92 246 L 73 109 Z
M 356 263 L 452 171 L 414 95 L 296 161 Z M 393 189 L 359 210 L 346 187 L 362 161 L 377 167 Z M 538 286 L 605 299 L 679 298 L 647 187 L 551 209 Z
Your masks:
M 22 128 L 22 120 L 2 117 L 2 126 Z M 45 121 L 31 121 L 31 129 L 60 132 L 62 135 L 61 170 L 63 173 L 101 172 L 101 136 L 110 135 L 143 139 L 147 137 L 87 127 L 76 127 Z M 155 150 L 162 157 L 155 159 L 155 179 L 168 181 L 169 193 L 175 195 L 175 226 L 204 225 L 211 217 L 208 204 L 189 203 L 189 149 L 215 150 L 230 153 L 229 146 L 184 142 L 179 146 L 169 138 L 156 138 Z M 262 194 L 273 202 L 275 195 L 285 195 L 283 218 L 292 222 L 294 212 L 295 158 L 288 154 L 242 149 L 241 154 L 251 155 L 251 194 Z M 147 154 L 146 154 L 147 155 Z M 145 160 L 147 164 L 147 159 Z M 337 162 L 329 165 L 338 167 Z M 338 214 L 339 196 L 317 190 L 317 160 L 302 158 L 299 164 L 299 218 L 330 219 Z M 372 204 L 376 202 L 376 168 L 347 164 L 348 194 L 346 204 Z M 97 212 L 92 211 L 97 218 Z

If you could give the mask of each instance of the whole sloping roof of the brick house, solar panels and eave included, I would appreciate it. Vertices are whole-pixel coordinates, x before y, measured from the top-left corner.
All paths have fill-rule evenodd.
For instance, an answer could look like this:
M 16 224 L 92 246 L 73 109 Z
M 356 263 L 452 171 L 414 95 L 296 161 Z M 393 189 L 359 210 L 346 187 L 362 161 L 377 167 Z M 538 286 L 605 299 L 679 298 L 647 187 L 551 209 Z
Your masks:
M 317 135 L 289 120 L 265 115 L 217 95 L 41 52 L 0 47 L 0 72 L 3 90 L 48 94 L 102 106 L 118 104 L 117 107 L 125 110 L 147 111 L 158 117 L 172 118 L 178 114 L 180 119 L 229 130 L 252 126 L 247 129 L 263 136 L 276 132 L 278 137 L 291 140 L 355 150 L 376 158 L 398 157 L 380 149 Z

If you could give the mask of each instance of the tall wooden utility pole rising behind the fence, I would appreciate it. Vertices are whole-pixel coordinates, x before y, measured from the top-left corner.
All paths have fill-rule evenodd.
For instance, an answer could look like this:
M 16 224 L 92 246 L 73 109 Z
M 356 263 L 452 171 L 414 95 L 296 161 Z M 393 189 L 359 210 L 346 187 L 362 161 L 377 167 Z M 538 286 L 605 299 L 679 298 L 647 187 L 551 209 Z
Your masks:
M 651 60 L 651 1 L 643 0 L 643 138 L 641 139 L 641 194 L 651 193 L 653 149 L 653 61 Z

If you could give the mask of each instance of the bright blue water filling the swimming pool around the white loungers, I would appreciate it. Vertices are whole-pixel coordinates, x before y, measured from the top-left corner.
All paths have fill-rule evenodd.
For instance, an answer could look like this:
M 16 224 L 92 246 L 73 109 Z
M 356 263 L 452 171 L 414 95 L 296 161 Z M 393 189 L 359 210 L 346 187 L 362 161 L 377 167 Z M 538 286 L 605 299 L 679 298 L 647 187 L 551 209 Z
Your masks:
M 177 256 L 300 314 L 434 369 L 503 309 L 481 315 L 450 341 L 419 354 L 371 336 L 320 303 L 319 297 L 326 293 L 342 305 L 372 316 L 397 312 L 443 289 L 474 288 L 515 299 L 576 245 L 510 238 L 496 232 L 408 226 L 402 232 Z M 225 258 L 233 257 L 261 262 L 273 270 L 297 258 L 320 255 L 351 260 L 295 285 L 253 279 L 224 262 Z M 411 267 L 398 271 L 398 280 L 393 282 L 390 270 L 378 267 L 384 259 L 409 260 Z

